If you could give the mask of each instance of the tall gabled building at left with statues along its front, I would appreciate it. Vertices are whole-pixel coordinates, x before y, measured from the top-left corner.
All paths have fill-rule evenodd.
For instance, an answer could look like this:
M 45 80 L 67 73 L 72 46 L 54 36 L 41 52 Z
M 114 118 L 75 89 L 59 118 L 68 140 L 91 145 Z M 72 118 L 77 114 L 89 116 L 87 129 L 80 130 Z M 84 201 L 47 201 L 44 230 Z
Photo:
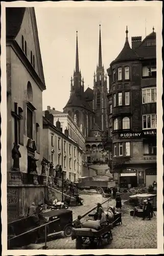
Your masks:
M 6 8 L 6 62 L 8 221 L 13 221 L 26 215 L 32 202 L 44 198 L 43 184 L 36 185 L 43 158 L 42 92 L 46 88 L 34 8 Z M 10 200 L 13 190 L 15 205 Z

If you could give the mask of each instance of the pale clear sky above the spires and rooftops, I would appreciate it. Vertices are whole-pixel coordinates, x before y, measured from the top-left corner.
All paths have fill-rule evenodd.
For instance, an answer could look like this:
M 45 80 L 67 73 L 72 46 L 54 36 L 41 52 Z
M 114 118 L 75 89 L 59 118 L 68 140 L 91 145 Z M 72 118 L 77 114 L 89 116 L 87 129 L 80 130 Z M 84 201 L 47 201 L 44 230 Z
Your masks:
M 75 69 L 76 31 L 78 31 L 79 66 L 84 89 L 93 88 L 93 73 L 98 63 L 99 25 L 101 24 L 102 62 L 105 71 L 125 44 L 126 26 L 131 36 L 152 32 L 158 25 L 154 7 L 35 7 L 40 51 L 46 90 L 43 110 L 47 106 L 63 111 Z

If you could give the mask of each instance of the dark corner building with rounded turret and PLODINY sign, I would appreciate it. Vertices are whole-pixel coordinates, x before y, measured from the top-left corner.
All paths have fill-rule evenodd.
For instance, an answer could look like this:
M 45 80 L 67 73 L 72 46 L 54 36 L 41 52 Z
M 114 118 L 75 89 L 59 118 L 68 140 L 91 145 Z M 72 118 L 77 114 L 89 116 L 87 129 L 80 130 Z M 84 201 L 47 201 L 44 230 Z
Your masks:
M 113 176 L 120 187 L 156 181 L 156 33 L 126 41 L 110 64 L 108 122 Z

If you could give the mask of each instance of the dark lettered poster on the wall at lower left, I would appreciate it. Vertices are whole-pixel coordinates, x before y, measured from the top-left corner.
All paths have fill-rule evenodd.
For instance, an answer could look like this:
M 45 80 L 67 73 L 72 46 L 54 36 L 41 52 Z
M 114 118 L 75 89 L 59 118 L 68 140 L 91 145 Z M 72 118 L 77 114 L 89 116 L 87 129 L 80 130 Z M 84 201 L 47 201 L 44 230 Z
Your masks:
M 8 223 L 19 219 L 19 189 L 7 189 Z

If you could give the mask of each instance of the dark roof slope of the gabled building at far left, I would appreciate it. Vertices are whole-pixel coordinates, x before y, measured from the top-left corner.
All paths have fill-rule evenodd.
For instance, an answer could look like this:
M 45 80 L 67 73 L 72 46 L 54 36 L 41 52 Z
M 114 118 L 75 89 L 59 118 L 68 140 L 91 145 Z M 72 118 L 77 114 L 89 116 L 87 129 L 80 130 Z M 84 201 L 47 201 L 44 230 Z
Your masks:
M 25 14 L 25 7 L 6 8 L 6 37 L 15 38 L 18 34 Z

